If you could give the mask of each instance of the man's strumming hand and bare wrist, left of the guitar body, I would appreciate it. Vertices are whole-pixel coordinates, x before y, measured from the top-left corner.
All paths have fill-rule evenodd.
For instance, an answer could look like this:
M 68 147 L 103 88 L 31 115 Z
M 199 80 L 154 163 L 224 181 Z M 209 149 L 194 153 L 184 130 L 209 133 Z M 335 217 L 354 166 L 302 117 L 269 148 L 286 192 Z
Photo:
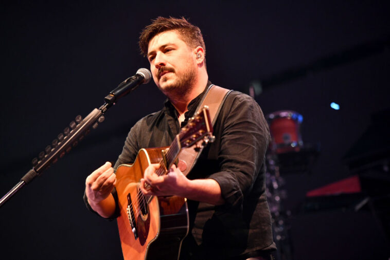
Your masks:
M 112 190 L 116 184 L 116 175 L 110 162 L 106 162 L 85 180 L 85 194 L 93 210 L 103 217 L 109 217 L 112 211 Z M 110 206 L 109 206 L 110 205 Z M 108 208 L 107 208 L 108 206 Z M 115 202 L 114 202 L 115 209 Z

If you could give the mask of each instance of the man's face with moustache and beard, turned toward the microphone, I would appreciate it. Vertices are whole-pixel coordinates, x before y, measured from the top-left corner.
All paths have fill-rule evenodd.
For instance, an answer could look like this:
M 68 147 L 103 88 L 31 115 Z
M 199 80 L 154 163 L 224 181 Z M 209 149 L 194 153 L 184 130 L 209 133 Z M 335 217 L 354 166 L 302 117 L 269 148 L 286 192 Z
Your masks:
M 148 60 L 153 80 L 165 94 L 183 95 L 196 77 L 194 48 L 175 30 L 155 35 L 148 45 Z

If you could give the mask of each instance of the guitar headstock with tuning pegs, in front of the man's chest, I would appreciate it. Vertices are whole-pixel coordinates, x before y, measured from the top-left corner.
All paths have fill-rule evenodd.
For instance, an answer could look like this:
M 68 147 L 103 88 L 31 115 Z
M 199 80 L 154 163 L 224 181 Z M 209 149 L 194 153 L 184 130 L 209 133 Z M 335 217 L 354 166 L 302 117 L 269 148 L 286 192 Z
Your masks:
M 188 121 L 187 125 L 182 128 L 179 139 L 182 147 L 190 147 L 201 139 L 204 143 L 214 141 L 208 106 L 204 106 Z

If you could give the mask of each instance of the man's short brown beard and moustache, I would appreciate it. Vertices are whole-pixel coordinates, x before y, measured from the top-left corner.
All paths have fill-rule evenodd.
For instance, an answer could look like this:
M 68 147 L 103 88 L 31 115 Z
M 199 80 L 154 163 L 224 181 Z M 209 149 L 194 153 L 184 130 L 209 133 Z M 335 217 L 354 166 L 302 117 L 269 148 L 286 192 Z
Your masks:
M 168 67 L 161 67 L 158 69 L 158 73 L 159 71 L 175 72 L 173 68 Z M 189 67 L 183 75 L 175 75 L 176 80 L 173 83 L 166 85 L 164 88 L 158 88 L 168 97 L 181 98 L 191 91 L 193 83 L 196 79 L 196 72 L 194 68 Z

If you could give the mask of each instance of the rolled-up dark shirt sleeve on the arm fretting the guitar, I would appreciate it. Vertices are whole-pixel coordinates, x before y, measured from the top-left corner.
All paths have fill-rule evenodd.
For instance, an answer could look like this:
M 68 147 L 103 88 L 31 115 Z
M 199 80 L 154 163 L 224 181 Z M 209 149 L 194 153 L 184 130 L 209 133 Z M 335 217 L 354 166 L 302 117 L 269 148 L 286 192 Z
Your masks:
M 224 109 L 218 154 L 220 171 L 209 178 L 220 185 L 226 207 L 242 208 L 243 198 L 251 192 L 261 170 L 271 138 L 261 108 L 250 96 L 237 95 L 232 105 Z

